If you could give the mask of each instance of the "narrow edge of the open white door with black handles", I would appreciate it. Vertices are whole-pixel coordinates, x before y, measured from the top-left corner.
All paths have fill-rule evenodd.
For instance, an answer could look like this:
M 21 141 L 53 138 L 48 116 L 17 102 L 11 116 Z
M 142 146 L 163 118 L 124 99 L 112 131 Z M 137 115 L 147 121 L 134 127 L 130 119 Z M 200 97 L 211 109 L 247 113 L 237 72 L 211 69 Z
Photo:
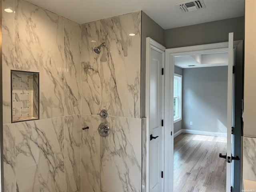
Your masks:
M 234 33 L 228 34 L 228 115 L 227 115 L 227 159 L 226 159 L 226 192 L 230 192 L 231 186 L 233 186 L 233 172 L 232 169 L 232 126 L 233 126 L 233 65 L 234 65 L 234 48 L 233 48 L 233 36 Z

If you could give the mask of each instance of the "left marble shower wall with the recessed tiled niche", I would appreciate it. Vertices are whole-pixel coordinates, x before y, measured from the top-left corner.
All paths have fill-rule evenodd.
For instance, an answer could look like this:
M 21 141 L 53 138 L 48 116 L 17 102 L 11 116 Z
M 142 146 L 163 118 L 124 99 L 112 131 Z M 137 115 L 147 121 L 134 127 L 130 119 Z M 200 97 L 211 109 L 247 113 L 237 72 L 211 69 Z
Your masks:
M 80 191 L 80 25 L 23 0 L 2 1 L 4 187 Z M 10 70 L 40 73 L 40 120 L 11 124 Z

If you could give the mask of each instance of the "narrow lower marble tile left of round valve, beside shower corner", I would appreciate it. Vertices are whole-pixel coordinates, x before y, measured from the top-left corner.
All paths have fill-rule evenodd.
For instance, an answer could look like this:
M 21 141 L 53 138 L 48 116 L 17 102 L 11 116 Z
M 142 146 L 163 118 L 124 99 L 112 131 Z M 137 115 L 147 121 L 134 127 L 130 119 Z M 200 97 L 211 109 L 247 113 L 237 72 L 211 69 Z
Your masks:
M 82 115 L 81 191 L 100 192 L 100 135 L 101 119 L 96 115 Z

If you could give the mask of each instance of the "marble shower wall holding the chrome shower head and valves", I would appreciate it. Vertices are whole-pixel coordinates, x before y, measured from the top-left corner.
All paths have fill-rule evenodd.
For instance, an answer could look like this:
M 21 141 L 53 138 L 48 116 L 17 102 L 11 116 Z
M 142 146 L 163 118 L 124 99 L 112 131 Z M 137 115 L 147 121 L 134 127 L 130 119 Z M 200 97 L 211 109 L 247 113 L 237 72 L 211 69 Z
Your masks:
M 134 12 L 81 26 L 82 123 L 92 127 L 82 136 L 82 191 L 141 191 L 140 25 Z M 106 138 L 101 122 L 110 126 Z

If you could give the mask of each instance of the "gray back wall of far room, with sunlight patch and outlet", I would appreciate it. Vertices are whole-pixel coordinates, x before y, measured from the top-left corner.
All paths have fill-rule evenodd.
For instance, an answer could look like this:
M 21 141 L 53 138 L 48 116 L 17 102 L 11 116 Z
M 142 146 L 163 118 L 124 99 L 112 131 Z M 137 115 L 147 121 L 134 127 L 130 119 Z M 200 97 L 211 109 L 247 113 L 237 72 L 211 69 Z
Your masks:
M 182 128 L 225 133 L 227 86 L 227 66 L 183 69 Z

